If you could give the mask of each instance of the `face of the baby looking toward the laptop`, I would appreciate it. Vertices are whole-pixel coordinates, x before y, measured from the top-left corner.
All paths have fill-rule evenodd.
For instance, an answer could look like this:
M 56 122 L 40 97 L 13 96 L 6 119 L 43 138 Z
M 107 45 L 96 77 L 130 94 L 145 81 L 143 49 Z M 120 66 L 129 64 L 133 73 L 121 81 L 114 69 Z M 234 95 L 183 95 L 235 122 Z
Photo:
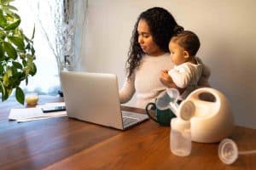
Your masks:
M 171 41 L 169 43 L 169 50 L 171 53 L 171 59 L 174 65 L 181 65 L 184 62 L 186 62 L 186 59 L 184 57 L 184 49 L 180 47 L 177 42 Z

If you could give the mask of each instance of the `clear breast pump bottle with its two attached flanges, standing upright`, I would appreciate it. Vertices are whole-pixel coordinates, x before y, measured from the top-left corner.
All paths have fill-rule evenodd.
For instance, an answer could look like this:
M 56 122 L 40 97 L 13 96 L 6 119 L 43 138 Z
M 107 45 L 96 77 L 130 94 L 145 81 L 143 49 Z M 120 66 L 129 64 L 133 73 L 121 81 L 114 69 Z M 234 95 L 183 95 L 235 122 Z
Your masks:
M 195 115 L 195 105 L 190 100 L 184 100 L 177 105 L 179 92 L 175 88 L 167 88 L 166 93 L 156 101 L 160 110 L 170 108 L 177 116 L 171 120 L 170 149 L 176 156 L 189 156 L 191 152 L 190 118 Z

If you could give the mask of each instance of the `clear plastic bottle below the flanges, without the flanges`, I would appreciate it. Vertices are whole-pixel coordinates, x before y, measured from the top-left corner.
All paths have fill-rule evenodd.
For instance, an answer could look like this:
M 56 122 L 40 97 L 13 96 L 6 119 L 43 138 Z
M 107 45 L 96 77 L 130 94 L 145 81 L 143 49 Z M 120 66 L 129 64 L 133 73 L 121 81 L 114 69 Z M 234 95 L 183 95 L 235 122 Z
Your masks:
M 172 118 L 170 149 L 176 156 L 189 156 L 191 153 L 190 121 Z

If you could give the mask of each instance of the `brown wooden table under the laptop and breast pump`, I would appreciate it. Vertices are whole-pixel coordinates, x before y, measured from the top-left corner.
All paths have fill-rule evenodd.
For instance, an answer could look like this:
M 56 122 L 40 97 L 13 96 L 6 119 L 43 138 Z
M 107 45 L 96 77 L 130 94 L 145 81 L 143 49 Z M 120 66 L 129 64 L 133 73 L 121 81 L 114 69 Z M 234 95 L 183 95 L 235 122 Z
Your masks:
M 40 103 L 60 101 L 40 96 Z M 232 165 L 218 159 L 218 144 L 193 142 L 190 156 L 170 151 L 170 127 L 146 121 L 127 131 L 57 117 L 10 122 L 10 99 L 0 104 L 0 169 L 256 169 L 256 155 Z M 123 110 L 144 112 L 123 107 Z M 232 139 L 240 150 L 256 149 L 256 130 L 236 127 Z

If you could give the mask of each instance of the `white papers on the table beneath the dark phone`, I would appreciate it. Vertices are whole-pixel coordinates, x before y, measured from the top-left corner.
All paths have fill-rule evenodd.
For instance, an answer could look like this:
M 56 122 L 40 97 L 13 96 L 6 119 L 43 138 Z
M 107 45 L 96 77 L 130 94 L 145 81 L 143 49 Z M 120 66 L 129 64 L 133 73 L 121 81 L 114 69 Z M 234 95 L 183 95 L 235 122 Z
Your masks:
M 64 102 L 61 103 L 47 103 L 45 105 L 37 105 L 33 108 L 24 109 L 11 109 L 9 113 L 10 120 L 16 120 L 17 122 L 35 121 L 57 116 L 67 116 L 67 111 L 55 111 L 44 113 L 42 107 L 44 106 L 61 106 L 65 105 Z

